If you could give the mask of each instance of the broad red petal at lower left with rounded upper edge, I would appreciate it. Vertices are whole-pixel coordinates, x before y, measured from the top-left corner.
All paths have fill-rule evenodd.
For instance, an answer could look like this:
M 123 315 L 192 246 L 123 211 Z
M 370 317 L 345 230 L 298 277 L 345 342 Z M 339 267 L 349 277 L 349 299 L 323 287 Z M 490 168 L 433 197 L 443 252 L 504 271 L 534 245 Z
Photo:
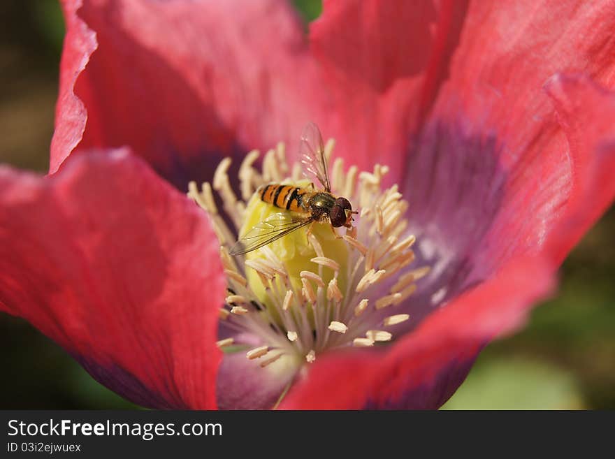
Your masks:
M 208 220 L 126 152 L 0 169 L 0 305 L 147 407 L 213 408 L 226 281 Z

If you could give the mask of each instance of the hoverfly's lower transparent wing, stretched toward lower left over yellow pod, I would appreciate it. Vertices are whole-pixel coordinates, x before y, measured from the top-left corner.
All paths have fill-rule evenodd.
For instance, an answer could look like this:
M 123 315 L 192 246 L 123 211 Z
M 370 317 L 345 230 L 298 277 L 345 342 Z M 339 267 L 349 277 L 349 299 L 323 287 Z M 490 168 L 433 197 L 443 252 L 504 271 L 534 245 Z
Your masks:
M 302 226 L 312 223 L 310 216 L 297 217 L 289 212 L 280 212 L 261 223 L 253 226 L 250 231 L 245 233 L 243 238 L 238 240 L 229 253 L 233 256 L 247 254 L 252 250 L 270 244 L 271 242 L 284 237 L 287 234 L 298 230 Z

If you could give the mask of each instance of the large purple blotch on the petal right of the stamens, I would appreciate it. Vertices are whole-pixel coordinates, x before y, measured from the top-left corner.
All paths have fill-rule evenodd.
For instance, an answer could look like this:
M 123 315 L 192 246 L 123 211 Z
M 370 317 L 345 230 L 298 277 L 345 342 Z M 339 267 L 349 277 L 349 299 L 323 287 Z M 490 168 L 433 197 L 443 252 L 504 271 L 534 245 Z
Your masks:
M 473 133 L 444 122 L 426 126 L 412 143 L 402 184 L 409 232 L 417 236 L 412 266 L 428 265 L 431 272 L 396 309 L 412 318 L 393 328 L 396 334 L 491 274 L 475 263 L 475 254 L 502 202 L 502 151 L 493 131 Z

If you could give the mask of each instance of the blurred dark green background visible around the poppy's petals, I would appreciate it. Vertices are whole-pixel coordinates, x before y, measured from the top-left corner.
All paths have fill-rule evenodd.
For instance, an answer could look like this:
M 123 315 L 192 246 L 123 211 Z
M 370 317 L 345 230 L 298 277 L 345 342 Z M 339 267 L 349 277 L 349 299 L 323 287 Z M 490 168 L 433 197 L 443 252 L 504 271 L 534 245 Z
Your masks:
M 319 1 L 296 0 L 306 20 Z M 55 0 L 2 0 L 0 162 L 45 173 L 64 34 Z M 482 353 L 447 409 L 615 409 L 615 212 L 561 270 L 558 296 Z M 131 408 L 55 343 L 0 314 L 1 409 Z

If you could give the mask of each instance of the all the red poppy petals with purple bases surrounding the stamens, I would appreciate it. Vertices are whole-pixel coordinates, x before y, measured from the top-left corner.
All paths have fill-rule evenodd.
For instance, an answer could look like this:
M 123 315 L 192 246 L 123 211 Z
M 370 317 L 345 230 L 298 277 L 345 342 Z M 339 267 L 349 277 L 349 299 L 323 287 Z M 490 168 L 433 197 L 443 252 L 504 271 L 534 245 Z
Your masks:
M 325 1 L 307 38 L 273 0 L 64 13 L 51 175 L 0 170 L 0 309 L 140 405 L 440 407 L 615 195 L 608 1 Z M 273 371 L 219 350 L 229 267 L 183 191 L 308 119 L 347 164 L 389 166 L 430 271 L 394 306 L 410 320 L 356 326 L 391 342 Z

